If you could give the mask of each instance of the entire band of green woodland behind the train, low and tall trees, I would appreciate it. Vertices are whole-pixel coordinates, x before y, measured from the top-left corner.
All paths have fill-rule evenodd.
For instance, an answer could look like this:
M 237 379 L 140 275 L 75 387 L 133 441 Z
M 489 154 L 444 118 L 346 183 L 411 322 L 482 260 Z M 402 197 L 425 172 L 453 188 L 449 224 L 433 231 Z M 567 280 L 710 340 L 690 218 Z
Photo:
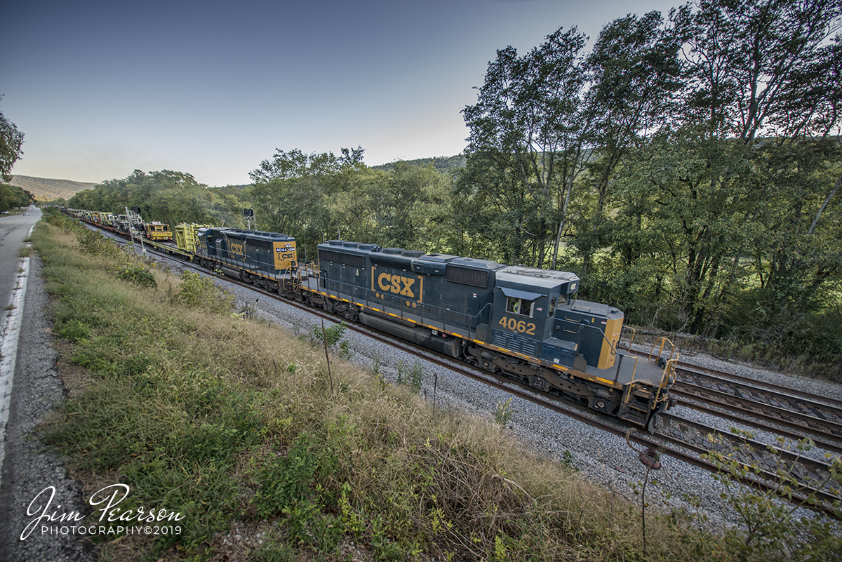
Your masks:
M 739 8 L 736 8 L 739 6 Z M 465 155 L 275 151 L 242 190 L 135 172 L 71 206 L 573 271 L 627 321 L 840 377 L 839 3 L 701 3 L 501 48 Z

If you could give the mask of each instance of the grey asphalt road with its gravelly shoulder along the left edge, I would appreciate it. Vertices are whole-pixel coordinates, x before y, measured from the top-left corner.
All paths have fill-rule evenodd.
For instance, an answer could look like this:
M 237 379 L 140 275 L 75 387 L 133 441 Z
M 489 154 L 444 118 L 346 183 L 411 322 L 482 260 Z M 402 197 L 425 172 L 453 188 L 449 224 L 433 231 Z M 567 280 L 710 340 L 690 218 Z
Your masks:
M 70 512 L 87 513 L 81 485 L 68 477 L 61 459 L 38 440 L 39 424 L 65 396 L 55 368 L 58 354 L 52 323 L 45 315 L 47 295 L 40 261 L 29 258 L 24 272 L 19 271 L 18 253 L 38 219 L 40 210 L 36 209 L 29 216 L 0 215 L 4 350 L 8 351 L 5 344 L 13 340 L 12 335 L 17 336 L 17 353 L 3 355 L 3 364 L 14 359 L 13 374 L 0 377 L 0 418 L 6 418 L 0 471 L 0 560 L 93 560 L 92 543 L 71 532 L 72 522 L 61 521 Z M 25 294 L 14 290 L 23 284 Z M 15 305 L 5 305 L 12 302 Z M 11 334 L 8 323 L 14 315 L 19 331 Z

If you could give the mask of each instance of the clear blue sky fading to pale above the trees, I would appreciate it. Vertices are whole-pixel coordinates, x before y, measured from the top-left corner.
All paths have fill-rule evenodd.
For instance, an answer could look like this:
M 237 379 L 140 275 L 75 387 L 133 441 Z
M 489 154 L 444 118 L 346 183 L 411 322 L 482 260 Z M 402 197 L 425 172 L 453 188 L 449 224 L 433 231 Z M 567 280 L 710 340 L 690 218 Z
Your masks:
M 362 146 L 370 166 L 465 147 L 488 61 L 559 26 L 591 42 L 666 0 L 28 0 L 3 8 L 0 110 L 14 174 L 101 182 L 133 170 L 249 183 L 289 151 Z

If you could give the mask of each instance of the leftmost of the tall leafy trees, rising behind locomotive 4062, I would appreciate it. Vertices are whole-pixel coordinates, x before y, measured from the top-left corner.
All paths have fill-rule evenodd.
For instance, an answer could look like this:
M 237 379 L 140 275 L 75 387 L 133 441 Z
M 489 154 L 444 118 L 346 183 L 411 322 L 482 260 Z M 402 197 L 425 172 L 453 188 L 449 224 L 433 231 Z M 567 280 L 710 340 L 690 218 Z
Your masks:
M 461 180 L 490 178 L 481 170 L 490 171 L 491 162 L 497 168 L 492 183 L 463 186 L 462 193 L 472 190 L 482 198 L 484 189 L 509 186 L 514 198 L 495 198 L 504 204 L 498 213 L 501 222 L 514 229 L 514 242 L 552 244 L 553 267 L 573 182 L 593 139 L 594 115 L 583 105 L 585 40 L 576 28 L 559 28 L 525 56 L 511 46 L 498 50 L 496 60 L 488 64 L 477 103 L 462 112 L 471 134 L 466 149 L 469 173 Z M 479 169 L 473 172 L 472 167 Z M 525 230 L 527 217 L 536 213 L 542 219 L 541 231 Z M 543 255 L 537 258 L 543 261 Z

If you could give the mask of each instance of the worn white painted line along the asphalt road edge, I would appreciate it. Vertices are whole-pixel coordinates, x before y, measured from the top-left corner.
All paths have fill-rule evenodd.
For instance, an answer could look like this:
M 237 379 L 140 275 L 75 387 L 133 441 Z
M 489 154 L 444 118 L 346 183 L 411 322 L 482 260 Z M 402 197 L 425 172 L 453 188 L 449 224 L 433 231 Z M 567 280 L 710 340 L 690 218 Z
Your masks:
M 14 363 L 18 358 L 18 337 L 20 325 L 24 318 L 24 301 L 26 300 L 26 282 L 29 279 L 29 257 L 24 257 L 18 271 L 18 283 L 12 291 L 9 309 L 5 310 L 6 325 L 3 326 L 3 342 L 0 343 L 0 476 L 2 476 L 3 459 L 6 457 L 6 423 L 8 409 L 12 401 L 12 380 L 14 378 Z

